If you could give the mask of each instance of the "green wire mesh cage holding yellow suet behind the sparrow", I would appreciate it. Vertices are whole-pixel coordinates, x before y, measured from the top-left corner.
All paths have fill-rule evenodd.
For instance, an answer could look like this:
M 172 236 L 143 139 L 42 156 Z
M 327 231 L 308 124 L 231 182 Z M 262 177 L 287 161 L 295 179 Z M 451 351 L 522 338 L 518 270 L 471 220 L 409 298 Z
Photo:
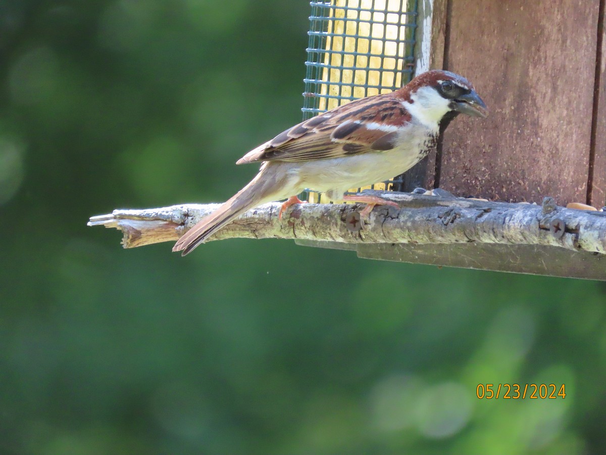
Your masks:
M 310 5 L 304 120 L 410 81 L 417 0 L 317 0 Z M 398 176 L 368 188 L 401 191 L 403 184 Z M 304 197 L 328 202 L 311 190 Z

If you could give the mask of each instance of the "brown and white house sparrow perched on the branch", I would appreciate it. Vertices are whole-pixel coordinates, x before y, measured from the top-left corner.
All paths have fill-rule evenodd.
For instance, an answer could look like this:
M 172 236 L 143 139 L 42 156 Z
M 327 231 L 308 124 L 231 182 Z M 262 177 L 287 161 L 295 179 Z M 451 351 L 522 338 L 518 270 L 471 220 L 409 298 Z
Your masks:
M 191 252 L 209 235 L 248 209 L 286 199 L 279 212 L 301 203 L 306 188 L 331 200 L 377 204 L 393 201 L 367 195 L 344 195 L 349 188 L 392 178 L 410 169 L 436 143 L 440 126 L 456 115 L 487 115 L 484 101 L 462 76 L 431 70 L 396 92 L 356 99 L 305 120 L 240 158 L 236 164 L 262 161 L 250 183 L 208 215 L 175 244 Z

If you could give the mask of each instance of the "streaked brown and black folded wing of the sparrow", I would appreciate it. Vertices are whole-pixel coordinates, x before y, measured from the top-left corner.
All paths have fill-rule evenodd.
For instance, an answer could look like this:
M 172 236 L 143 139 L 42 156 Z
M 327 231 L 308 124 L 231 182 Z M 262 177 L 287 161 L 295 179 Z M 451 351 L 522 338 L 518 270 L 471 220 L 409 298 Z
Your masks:
M 390 150 L 397 135 L 390 127 L 409 120 L 401 100 L 391 93 L 358 99 L 285 130 L 248 152 L 238 164 L 321 160 Z

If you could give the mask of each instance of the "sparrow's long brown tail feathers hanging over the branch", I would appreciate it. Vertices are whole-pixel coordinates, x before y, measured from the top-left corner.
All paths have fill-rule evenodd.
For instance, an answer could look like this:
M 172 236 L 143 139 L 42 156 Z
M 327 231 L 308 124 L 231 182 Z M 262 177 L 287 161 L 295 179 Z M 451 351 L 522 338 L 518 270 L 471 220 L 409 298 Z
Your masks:
M 225 224 L 230 223 L 248 209 L 259 206 L 266 202 L 279 199 L 273 197 L 276 182 L 268 181 L 267 176 L 261 177 L 259 173 L 250 183 L 239 190 L 233 197 L 225 202 L 207 217 L 202 218 L 190 231 L 186 232 L 173 247 L 173 251 L 182 251 L 182 256 L 189 254 L 201 244 L 208 236 L 219 231 Z M 273 180 L 273 179 L 271 179 Z

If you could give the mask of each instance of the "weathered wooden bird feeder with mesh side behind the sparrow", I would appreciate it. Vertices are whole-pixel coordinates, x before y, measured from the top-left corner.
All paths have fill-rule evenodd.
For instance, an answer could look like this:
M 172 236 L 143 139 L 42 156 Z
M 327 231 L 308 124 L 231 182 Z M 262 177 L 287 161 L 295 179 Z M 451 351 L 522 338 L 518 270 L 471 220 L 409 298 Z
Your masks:
M 311 5 L 308 66 L 318 68 L 316 76 L 324 82 L 313 81 L 319 87 L 314 112 L 347 102 L 356 90 L 385 89 L 380 73 L 373 78 L 373 57 L 358 55 L 373 55 L 367 44 L 373 40 L 395 42 L 399 70 L 410 72 L 413 62 L 417 74 L 438 68 L 467 75 L 488 105 L 490 115 L 482 124 L 454 121 L 436 150 L 395 178 L 402 183 L 398 190 L 441 187 L 491 201 L 541 204 L 550 195 L 562 206 L 584 203 L 601 209 L 606 204 L 604 0 L 588 0 L 584 8 L 573 0 L 333 0 Z M 399 18 L 393 14 L 398 11 Z M 387 33 L 389 15 L 402 32 Z M 413 15 L 416 20 L 410 21 Z M 372 36 L 374 24 L 367 21 L 381 24 L 375 34 L 384 35 Z M 324 41 L 317 38 L 322 36 L 319 24 L 324 25 Z M 335 38 L 335 31 L 347 38 Z M 318 44 L 324 53 L 317 52 Z M 414 58 L 407 54 L 412 49 Z M 367 67 L 353 70 L 358 78 L 352 79 L 339 71 L 339 64 Z M 388 75 L 392 67 L 387 67 Z M 310 100 L 307 94 L 304 112 L 310 111 Z M 375 187 L 389 189 L 390 183 Z M 311 194 L 310 200 L 322 197 Z M 335 242 L 330 248 L 351 245 Z M 380 260 L 606 279 L 602 254 L 553 246 L 365 244 L 356 249 L 361 257 Z

